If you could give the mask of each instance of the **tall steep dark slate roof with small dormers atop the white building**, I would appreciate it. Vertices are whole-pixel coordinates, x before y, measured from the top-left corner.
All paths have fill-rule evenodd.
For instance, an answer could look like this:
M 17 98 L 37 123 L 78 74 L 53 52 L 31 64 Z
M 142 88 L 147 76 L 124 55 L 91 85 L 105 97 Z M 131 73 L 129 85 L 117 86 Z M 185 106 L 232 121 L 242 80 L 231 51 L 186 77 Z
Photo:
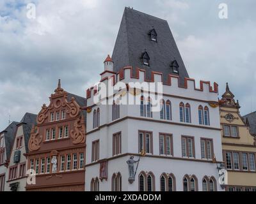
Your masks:
M 157 33 L 157 42 L 150 40 L 148 35 L 153 26 Z M 149 67 L 144 66 L 140 59 L 145 51 L 150 57 Z M 151 71 L 159 71 L 163 73 L 164 82 L 168 74 L 175 75 L 170 65 L 176 60 L 179 64 L 180 84 L 184 84 L 184 77 L 189 77 L 168 22 L 131 8 L 124 10 L 112 59 L 114 71 L 132 66 L 134 74 L 135 68 L 142 68 L 146 70 L 148 79 Z

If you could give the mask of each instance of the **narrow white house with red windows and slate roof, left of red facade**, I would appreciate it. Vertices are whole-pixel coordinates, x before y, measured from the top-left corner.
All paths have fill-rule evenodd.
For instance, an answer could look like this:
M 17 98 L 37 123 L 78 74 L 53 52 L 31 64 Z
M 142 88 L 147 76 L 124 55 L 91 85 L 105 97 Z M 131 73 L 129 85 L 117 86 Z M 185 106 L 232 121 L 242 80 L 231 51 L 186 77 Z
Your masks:
M 6 171 L 5 191 L 26 191 L 26 154 L 30 131 L 35 124 L 36 115 L 33 113 L 26 113 L 17 124 Z

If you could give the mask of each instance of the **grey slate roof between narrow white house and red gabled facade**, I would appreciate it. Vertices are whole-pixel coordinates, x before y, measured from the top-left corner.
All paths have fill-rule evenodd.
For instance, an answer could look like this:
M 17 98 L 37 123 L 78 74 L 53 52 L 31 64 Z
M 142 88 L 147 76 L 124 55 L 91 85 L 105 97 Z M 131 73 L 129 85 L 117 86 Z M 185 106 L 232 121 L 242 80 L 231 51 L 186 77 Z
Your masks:
M 36 114 L 33 113 L 25 113 L 25 115 L 20 120 L 20 124 L 22 124 L 23 128 L 23 136 L 26 147 L 26 152 L 28 153 L 28 142 L 30 138 L 30 132 L 33 125 L 36 125 Z

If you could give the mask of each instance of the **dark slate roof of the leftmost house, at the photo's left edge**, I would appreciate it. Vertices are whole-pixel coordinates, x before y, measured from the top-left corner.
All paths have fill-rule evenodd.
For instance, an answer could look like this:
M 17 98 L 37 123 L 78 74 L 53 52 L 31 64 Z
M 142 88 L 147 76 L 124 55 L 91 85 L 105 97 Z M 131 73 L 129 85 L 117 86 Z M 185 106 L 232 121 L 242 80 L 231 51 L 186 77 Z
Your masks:
M 4 129 L 4 131 L 1 132 L 1 133 L 4 133 L 4 142 L 5 142 L 7 160 L 10 159 L 10 153 L 11 153 L 12 144 L 15 138 L 17 124 L 19 124 L 19 122 L 12 122 L 6 129 Z

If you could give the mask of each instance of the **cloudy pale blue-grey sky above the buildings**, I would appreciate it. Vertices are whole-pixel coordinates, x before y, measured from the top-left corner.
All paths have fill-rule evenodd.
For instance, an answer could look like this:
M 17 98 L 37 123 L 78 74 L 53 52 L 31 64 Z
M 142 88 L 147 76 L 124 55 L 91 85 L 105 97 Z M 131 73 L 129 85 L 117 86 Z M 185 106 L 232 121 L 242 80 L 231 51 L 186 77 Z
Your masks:
M 27 17 L 35 3 L 36 18 Z M 220 3 L 228 18 L 220 19 Z M 168 20 L 189 77 L 230 84 L 241 114 L 256 110 L 255 0 L 1 0 L 0 130 L 38 113 L 56 88 L 85 96 L 112 54 L 125 6 Z

